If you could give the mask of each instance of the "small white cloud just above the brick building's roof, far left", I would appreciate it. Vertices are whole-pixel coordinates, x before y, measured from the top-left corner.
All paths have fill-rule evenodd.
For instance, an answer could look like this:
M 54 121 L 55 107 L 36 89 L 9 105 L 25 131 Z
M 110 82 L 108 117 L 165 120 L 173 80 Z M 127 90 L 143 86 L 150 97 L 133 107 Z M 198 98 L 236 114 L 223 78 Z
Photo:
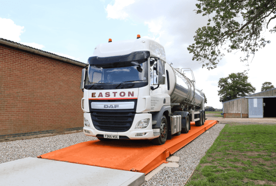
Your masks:
M 11 41 L 19 42 L 24 27 L 15 25 L 11 19 L 0 18 L 0 37 Z

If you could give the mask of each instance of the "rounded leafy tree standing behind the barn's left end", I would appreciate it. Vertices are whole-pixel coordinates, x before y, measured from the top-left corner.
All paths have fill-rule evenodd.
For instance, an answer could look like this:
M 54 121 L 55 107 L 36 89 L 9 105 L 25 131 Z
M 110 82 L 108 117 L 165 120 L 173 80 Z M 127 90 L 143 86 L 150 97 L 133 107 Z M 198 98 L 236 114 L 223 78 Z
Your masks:
M 248 83 L 247 72 L 232 73 L 226 78 L 220 78 L 218 81 L 219 101 L 225 102 L 236 99 L 251 93 L 255 93 L 256 89 Z

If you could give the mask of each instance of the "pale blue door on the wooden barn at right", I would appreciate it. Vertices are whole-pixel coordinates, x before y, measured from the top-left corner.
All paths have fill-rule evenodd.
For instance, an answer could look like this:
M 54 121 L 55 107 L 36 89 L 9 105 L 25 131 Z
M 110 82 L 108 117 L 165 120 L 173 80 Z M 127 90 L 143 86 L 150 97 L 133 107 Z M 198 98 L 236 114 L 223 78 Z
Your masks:
M 263 118 L 263 98 L 248 98 L 248 118 Z

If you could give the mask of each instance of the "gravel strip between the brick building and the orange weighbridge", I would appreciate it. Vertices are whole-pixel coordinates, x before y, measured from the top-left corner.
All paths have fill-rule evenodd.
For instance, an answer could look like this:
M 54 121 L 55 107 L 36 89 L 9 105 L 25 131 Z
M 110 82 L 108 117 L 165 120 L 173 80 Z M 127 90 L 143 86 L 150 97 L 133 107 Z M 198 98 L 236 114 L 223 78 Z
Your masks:
M 43 155 L 77 143 L 95 139 L 97 138 L 85 136 L 83 132 L 78 132 L 43 138 L 0 142 L 0 163 L 25 157 L 37 157 L 37 155 Z

